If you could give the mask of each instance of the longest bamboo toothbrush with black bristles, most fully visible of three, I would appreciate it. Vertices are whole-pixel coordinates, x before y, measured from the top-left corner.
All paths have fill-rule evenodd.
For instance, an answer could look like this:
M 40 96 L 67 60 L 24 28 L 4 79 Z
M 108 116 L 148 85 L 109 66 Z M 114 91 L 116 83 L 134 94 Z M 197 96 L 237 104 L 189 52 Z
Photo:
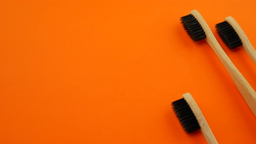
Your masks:
M 243 75 L 236 69 L 235 65 L 231 62 L 229 57 L 220 47 L 220 44 L 217 42 L 216 38 L 213 36 L 212 31 L 209 26 L 200 15 L 197 10 L 192 10 L 189 15 L 181 17 L 181 23 L 184 26 L 184 29 L 187 31 L 187 34 L 194 40 L 198 41 L 205 39 L 206 42 L 213 49 L 215 54 L 218 56 L 227 72 L 230 74 L 233 82 L 236 87 L 243 95 L 247 105 L 253 111 L 253 114 L 256 116 L 256 93 L 253 88 L 249 85 Z

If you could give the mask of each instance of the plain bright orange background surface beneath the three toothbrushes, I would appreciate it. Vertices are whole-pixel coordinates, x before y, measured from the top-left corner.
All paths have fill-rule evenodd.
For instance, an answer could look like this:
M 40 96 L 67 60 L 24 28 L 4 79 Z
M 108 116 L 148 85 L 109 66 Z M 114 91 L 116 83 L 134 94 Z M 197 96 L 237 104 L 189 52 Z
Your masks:
M 0 143 L 205 144 L 171 109 L 190 92 L 220 144 L 255 144 L 255 116 L 210 46 L 179 21 L 198 10 L 256 89 L 256 65 L 214 28 L 233 16 L 256 46 L 255 4 L 2 0 Z

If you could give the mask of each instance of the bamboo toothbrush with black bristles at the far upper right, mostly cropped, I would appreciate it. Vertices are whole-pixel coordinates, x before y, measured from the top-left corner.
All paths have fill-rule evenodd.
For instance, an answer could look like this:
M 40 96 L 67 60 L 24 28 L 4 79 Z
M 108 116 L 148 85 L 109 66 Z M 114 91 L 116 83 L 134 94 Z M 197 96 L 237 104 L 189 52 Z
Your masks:
M 224 22 L 216 24 L 215 27 L 220 38 L 229 49 L 242 46 L 247 55 L 249 55 L 256 64 L 256 51 L 243 32 L 243 29 L 236 23 L 236 20 L 234 20 L 233 17 L 226 17 Z

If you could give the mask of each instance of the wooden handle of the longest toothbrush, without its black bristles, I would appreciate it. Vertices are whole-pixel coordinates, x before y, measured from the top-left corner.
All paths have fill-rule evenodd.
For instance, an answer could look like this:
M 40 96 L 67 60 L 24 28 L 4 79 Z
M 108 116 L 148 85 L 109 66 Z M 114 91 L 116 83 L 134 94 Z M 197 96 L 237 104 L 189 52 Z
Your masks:
M 207 25 L 203 17 L 200 15 L 200 13 L 198 13 L 197 10 L 193 10 L 190 13 L 198 20 L 198 22 L 203 27 L 203 30 L 207 36 L 207 43 L 216 53 L 216 55 L 226 68 L 227 72 L 233 79 L 233 82 L 235 83 L 236 87 L 243 95 L 243 98 L 245 99 L 247 105 L 249 105 L 250 109 L 253 111 L 253 114 L 256 116 L 256 92 L 253 90 L 251 85 L 249 85 L 249 83 L 246 81 L 243 75 L 238 71 L 238 69 L 236 69 L 235 65 L 231 62 L 229 57 L 223 51 L 220 44 L 217 42 L 217 39 L 214 37 L 212 31 L 210 30 L 209 26 Z

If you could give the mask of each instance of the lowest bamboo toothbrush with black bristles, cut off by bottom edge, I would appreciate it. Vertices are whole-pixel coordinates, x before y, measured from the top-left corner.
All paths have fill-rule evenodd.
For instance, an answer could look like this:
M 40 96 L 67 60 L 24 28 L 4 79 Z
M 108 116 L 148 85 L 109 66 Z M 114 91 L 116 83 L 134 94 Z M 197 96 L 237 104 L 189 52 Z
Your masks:
M 190 134 L 200 129 L 208 144 L 218 144 L 192 95 L 186 93 L 182 97 L 171 105 L 185 132 Z

